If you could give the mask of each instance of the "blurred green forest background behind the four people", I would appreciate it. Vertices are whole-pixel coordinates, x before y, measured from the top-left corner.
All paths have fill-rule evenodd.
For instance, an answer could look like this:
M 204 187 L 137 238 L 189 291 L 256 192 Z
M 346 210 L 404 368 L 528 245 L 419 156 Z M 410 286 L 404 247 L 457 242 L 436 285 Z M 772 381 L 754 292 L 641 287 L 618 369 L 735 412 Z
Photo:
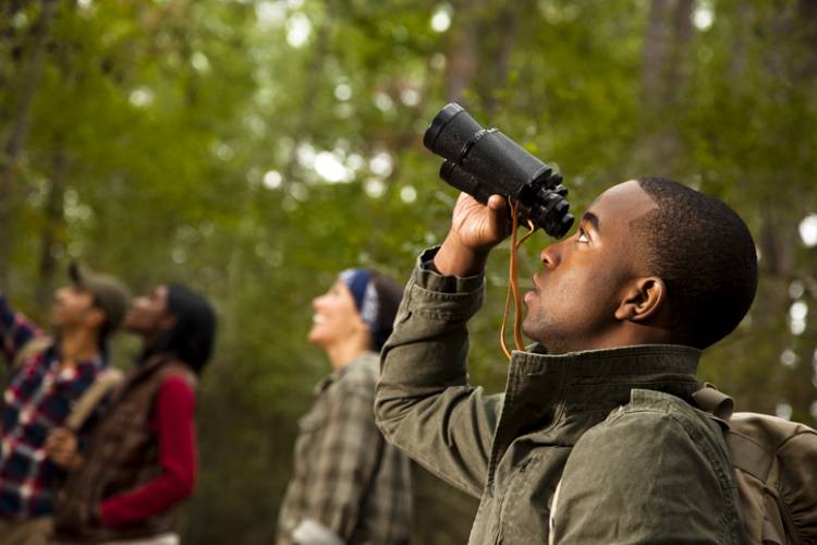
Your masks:
M 817 1 L 2 0 L 0 288 L 46 319 L 71 258 L 179 280 L 221 319 L 185 543 L 270 543 L 296 419 L 328 372 L 310 300 L 349 266 L 404 280 L 455 193 L 422 146 L 450 100 L 558 165 L 582 210 L 642 174 L 736 208 L 751 315 L 704 358 L 739 409 L 817 423 Z M 537 234 L 523 252 L 529 282 Z M 508 246 L 473 323 L 504 384 Z M 130 365 L 132 339 L 117 341 Z M 476 502 L 417 471 L 416 544 Z

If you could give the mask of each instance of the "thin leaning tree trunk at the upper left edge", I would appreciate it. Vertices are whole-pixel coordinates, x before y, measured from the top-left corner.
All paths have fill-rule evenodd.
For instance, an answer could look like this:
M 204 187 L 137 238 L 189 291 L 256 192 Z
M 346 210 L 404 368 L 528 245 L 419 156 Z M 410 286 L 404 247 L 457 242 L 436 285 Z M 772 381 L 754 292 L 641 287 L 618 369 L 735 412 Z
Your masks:
M 40 20 L 34 27 L 29 61 L 21 74 L 15 117 L 10 120 L 8 138 L 0 157 L 0 286 L 8 287 L 9 262 L 13 250 L 13 199 L 20 159 L 25 148 L 31 121 L 32 101 L 39 85 L 46 58 L 46 43 L 57 10 L 56 0 L 42 0 Z

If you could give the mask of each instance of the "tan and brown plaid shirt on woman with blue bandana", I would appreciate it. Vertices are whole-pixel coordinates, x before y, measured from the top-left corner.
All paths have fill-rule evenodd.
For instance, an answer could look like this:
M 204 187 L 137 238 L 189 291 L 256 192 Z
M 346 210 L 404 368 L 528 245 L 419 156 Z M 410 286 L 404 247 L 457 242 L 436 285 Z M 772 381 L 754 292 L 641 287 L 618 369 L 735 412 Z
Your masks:
M 368 352 L 315 387 L 315 403 L 298 422 L 279 545 L 309 543 L 293 533 L 316 526 L 334 536 L 317 543 L 408 543 L 411 468 L 375 426 L 378 375 L 379 359 Z

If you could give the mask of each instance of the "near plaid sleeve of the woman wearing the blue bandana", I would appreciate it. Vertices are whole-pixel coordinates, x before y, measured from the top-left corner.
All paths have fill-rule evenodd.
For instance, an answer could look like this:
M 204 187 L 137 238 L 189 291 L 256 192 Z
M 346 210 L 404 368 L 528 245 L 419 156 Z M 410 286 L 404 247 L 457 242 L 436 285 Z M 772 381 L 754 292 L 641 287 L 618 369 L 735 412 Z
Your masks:
M 306 519 L 313 519 L 347 541 L 359 518 L 363 495 L 382 449 L 375 426 L 374 392 L 345 386 L 329 392 L 326 425 L 316 444 Z

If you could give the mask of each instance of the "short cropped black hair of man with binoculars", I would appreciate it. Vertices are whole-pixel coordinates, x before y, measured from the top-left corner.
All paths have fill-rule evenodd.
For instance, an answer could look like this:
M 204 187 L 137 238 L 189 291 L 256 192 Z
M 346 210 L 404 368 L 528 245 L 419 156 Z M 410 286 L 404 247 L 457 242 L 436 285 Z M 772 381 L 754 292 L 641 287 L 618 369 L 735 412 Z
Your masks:
M 633 222 L 647 262 L 667 284 L 680 341 L 704 349 L 729 335 L 757 290 L 757 251 L 746 223 L 717 198 L 672 180 L 642 178 L 658 208 Z

